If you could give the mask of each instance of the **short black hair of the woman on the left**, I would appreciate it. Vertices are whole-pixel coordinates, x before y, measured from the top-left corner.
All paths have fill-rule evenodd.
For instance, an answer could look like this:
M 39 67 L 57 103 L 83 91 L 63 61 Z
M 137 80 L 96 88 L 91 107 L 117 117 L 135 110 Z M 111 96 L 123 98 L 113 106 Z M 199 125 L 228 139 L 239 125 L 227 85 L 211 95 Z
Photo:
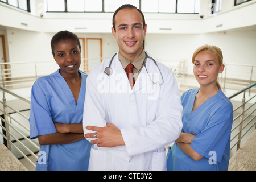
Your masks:
M 79 41 L 79 38 L 77 37 L 76 34 L 73 34 L 72 32 L 69 32 L 67 30 L 64 31 L 59 31 L 57 34 L 53 35 L 52 40 L 51 40 L 51 48 L 52 48 L 52 55 L 54 56 L 54 46 L 60 42 L 61 40 L 68 40 L 71 39 L 74 42 L 77 43 L 79 46 L 79 50 L 81 51 L 81 44 Z

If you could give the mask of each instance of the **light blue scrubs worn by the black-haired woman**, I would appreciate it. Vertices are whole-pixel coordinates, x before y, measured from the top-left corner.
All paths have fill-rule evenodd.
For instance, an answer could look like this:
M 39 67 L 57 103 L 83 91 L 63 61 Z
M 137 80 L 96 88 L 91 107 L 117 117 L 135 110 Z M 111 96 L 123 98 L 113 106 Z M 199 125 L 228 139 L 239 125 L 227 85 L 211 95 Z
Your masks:
M 30 138 L 55 133 L 54 122 L 81 123 L 84 111 L 87 75 L 80 71 L 82 82 L 77 104 L 59 69 L 38 78 L 31 90 Z M 40 146 L 36 170 L 88 170 L 90 147 L 83 139 L 70 144 Z

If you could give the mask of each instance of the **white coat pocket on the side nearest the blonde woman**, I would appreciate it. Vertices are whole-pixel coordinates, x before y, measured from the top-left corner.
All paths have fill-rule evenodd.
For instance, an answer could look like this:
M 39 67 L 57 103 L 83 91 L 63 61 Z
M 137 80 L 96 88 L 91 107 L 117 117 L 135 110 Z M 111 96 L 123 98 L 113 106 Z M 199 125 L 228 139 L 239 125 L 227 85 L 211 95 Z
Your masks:
M 152 171 L 166 171 L 166 150 L 153 152 Z

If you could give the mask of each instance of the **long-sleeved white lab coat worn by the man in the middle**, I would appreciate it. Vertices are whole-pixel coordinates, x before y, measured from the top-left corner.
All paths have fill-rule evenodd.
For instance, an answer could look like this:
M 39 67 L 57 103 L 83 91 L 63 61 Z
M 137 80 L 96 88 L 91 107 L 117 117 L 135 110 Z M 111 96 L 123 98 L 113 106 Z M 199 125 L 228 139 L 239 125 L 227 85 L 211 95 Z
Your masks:
M 182 129 L 180 93 L 172 71 L 158 67 L 164 84 L 152 81 L 162 78 L 154 61 L 147 59 L 134 88 L 131 89 L 125 70 L 114 57 L 113 74 L 104 73 L 110 60 L 94 67 L 86 81 L 84 133 L 93 133 L 85 126 L 106 126 L 113 123 L 122 133 L 125 146 L 113 148 L 92 146 L 89 170 L 165 170 L 166 151 Z M 94 138 L 86 138 L 89 141 Z

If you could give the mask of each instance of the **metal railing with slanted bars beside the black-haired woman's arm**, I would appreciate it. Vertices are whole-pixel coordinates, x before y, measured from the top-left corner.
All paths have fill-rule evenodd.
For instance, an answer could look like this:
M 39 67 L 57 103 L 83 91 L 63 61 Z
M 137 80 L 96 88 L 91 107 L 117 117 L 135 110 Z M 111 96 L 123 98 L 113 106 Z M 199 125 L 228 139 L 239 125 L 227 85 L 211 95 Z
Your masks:
M 28 116 L 23 113 L 27 109 L 20 110 L 20 108 L 18 108 L 18 105 L 22 105 L 23 108 L 29 108 L 30 100 L 2 86 L 0 86 L 0 90 L 3 93 L 2 101 L 0 101 L 2 104 L 2 108 L 0 109 L 0 129 L 2 129 L 2 132 L 0 131 L 0 137 L 2 136 L 5 146 L 13 152 L 18 159 L 25 158 L 35 167 L 35 160 L 38 159 L 35 153 L 39 152 L 40 147 L 37 140 L 30 140 L 29 138 Z M 10 94 L 15 98 L 15 104 L 7 104 L 6 94 Z M 11 100 L 13 100 L 13 98 Z M 35 160 L 31 160 L 28 156 L 32 156 Z

